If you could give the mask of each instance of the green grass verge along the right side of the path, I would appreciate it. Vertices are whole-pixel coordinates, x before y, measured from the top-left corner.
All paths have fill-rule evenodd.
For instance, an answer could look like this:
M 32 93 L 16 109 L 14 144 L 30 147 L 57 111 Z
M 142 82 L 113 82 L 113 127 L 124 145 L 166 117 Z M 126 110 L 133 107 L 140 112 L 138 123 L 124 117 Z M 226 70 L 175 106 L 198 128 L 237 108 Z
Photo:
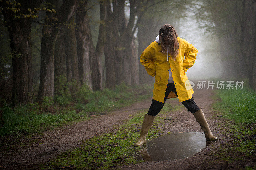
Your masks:
M 227 128 L 223 128 L 223 122 L 219 123 L 219 127 L 224 132 L 231 133 L 234 142 L 221 146 L 215 156 L 228 162 L 252 157 L 256 153 L 256 140 L 252 138 L 256 136 L 255 91 L 248 87 L 218 90 L 216 97 L 221 101 L 213 104 L 213 108 L 222 113 L 224 118 L 231 120 L 225 122 Z

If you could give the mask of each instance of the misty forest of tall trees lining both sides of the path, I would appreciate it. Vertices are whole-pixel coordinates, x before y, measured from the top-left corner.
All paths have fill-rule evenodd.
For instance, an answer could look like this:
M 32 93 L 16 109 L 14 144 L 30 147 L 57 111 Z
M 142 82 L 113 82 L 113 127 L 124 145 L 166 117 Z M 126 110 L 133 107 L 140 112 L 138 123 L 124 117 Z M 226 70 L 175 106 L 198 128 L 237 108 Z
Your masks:
M 150 82 L 140 54 L 159 27 L 178 26 L 188 11 L 217 37 L 222 76 L 248 78 L 255 89 L 253 0 L 1 1 L 1 97 L 42 101 L 58 79 L 91 90 Z

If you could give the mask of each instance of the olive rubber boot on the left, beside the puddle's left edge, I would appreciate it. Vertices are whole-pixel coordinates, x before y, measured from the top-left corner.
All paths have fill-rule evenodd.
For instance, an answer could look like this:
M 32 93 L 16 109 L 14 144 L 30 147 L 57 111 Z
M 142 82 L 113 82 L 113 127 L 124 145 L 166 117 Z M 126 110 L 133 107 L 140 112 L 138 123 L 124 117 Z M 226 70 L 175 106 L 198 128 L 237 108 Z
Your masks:
M 141 146 L 146 143 L 146 136 L 148 135 L 148 130 L 151 128 L 154 119 L 155 119 L 155 116 L 145 114 L 141 131 L 140 131 L 140 138 L 134 144 L 134 146 Z

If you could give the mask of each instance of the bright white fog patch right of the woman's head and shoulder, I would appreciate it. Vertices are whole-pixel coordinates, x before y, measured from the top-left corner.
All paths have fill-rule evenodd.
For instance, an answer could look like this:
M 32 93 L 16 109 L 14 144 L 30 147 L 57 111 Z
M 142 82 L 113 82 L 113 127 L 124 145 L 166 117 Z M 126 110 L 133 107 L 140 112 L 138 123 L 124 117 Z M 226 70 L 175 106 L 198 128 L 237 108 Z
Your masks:
M 199 28 L 193 14 L 180 19 L 179 37 L 187 40 L 198 49 L 196 62 L 186 73 L 192 80 L 211 80 L 223 74 L 221 51 L 218 39 L 214 35 L 204 34 L 205 30 Z

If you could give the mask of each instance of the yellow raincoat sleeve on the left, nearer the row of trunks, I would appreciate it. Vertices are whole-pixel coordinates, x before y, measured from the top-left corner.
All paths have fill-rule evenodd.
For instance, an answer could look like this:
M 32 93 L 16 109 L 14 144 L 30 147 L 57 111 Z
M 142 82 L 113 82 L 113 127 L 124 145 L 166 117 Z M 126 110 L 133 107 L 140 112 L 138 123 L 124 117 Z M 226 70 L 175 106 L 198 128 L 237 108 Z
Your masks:
M 147 73 L 150 76 L 156 75 L 156 65 L 154 63 L 154 59 L 152 56 L 152 52 L 150 51 L 150 47 L 147 47 L 143 53 L 140 55 L 140 63 L 144 65 Z

